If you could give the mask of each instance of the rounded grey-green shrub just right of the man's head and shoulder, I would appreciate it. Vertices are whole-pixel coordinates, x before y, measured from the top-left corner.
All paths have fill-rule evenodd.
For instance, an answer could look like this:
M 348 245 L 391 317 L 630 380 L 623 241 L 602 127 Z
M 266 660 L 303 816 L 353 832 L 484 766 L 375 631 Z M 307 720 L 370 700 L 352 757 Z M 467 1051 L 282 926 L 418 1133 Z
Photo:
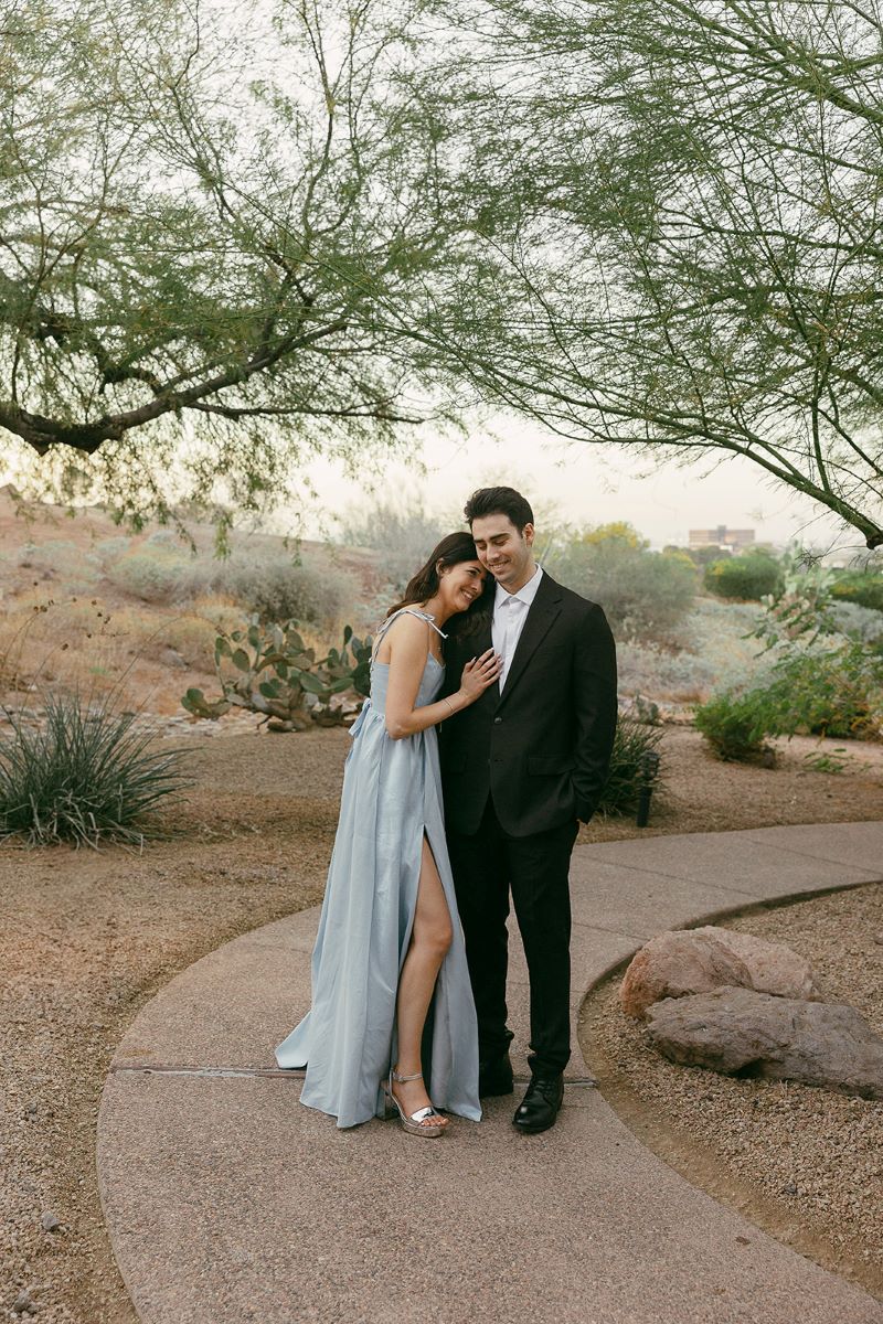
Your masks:
M 666 638 L 696 593 L 696 569 L 687 556 L 651 552 L 620 536 L 573 540 L 547 564 L 567 588 L 600 602 L 620 636 Z

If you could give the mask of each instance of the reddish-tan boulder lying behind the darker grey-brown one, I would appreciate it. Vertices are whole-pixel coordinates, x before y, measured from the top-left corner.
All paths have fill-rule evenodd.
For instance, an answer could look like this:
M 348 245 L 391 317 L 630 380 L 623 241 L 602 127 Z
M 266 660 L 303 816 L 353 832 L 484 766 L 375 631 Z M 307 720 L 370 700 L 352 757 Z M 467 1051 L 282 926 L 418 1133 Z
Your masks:
M 813 969 L 782 943 L 767 943 L 728 928 L 671 929 L 646 943 L 620 989 L 626 1016 L 643 1016 L 654 1002 L 735 986 L 778 997 L 821 998 Z

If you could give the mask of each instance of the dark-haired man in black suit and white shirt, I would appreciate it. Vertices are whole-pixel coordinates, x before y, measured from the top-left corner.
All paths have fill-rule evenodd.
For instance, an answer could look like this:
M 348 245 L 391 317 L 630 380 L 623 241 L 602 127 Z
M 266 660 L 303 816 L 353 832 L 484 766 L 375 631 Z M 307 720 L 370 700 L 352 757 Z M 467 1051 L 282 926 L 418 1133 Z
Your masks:
M 441 728 L 447 843 L 479 1035 L 479 1094 L 512 1091 L 506 1008 L 510 888 L 531 982 L 531 1084 L 512 1119 L 555 1123 L 571 1055 L 571 895 L 579 820 L 588 822 L 610 761 L 616 650 L 604 612 L 534 559 L 534 512 L 512 487 L 470 496 L 466 520 L 496 581 L 492 614 L 466 620 L 446 647 L 446 692 L 494 647 L 498 683 Z

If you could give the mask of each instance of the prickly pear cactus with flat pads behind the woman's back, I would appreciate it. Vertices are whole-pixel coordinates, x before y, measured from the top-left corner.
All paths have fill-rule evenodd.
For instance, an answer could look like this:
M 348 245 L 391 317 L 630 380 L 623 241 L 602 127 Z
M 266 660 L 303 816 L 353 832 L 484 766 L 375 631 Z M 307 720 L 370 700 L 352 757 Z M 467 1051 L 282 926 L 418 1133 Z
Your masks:
M 218 634 L 214 670 L 220 699 L 191 688 L 181 704 L 196 718 L 221 718 L 230 708 L 258 712 L 274 731 L 303 731 L 311 722 L 336 726 L 344 720 L 336 695 L 368 694 L 371 639 L 359 639 L 348 625 L 343 647 L 316 661 L 297 629 L 297 621 L 261 625 L 250 616 L 245 630 Z M 311 696 L 311 702 L 308 699 Z

